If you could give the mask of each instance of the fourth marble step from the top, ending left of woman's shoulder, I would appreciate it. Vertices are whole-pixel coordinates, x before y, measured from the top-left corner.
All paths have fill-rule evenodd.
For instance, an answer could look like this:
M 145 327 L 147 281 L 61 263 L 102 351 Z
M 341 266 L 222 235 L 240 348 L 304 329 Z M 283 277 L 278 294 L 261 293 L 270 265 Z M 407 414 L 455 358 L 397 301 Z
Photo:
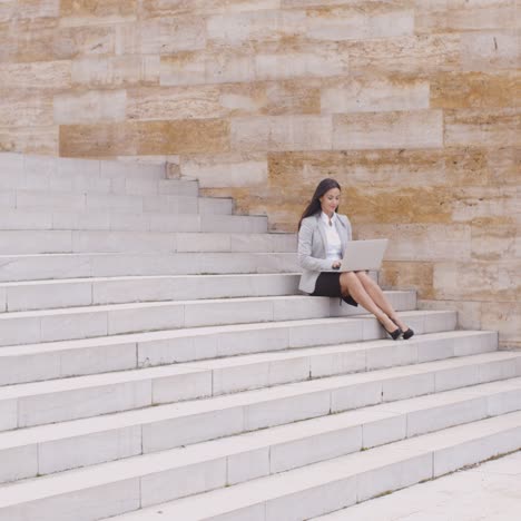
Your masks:
M 13 212 L 0 214 L 1 234 L 27 236 L 30 232 L 227 232 L 267 233 L 267 217 L 210 214 L 156 214 L 91 210 L 90 213 Z M 296 244 L 295 244 L 296 247 Z

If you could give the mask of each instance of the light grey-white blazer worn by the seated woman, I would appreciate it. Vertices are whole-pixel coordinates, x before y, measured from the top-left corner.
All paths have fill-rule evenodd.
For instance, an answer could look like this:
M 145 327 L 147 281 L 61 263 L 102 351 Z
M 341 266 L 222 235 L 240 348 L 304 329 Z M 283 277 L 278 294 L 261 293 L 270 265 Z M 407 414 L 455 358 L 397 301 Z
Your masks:
M 336 214 L 336 232 L 342 243 L 342 256 L 345 244 L 352 239 L 351 223 L 346 215 Z M 332 260 L 326 259 L 327 238 L 321 212 L 303 219 L 298 230 L 298 264 L 303 268 L 298 289 L 304 293 L 315 291 L 316 279 L 321 272 L 330 272 Z

